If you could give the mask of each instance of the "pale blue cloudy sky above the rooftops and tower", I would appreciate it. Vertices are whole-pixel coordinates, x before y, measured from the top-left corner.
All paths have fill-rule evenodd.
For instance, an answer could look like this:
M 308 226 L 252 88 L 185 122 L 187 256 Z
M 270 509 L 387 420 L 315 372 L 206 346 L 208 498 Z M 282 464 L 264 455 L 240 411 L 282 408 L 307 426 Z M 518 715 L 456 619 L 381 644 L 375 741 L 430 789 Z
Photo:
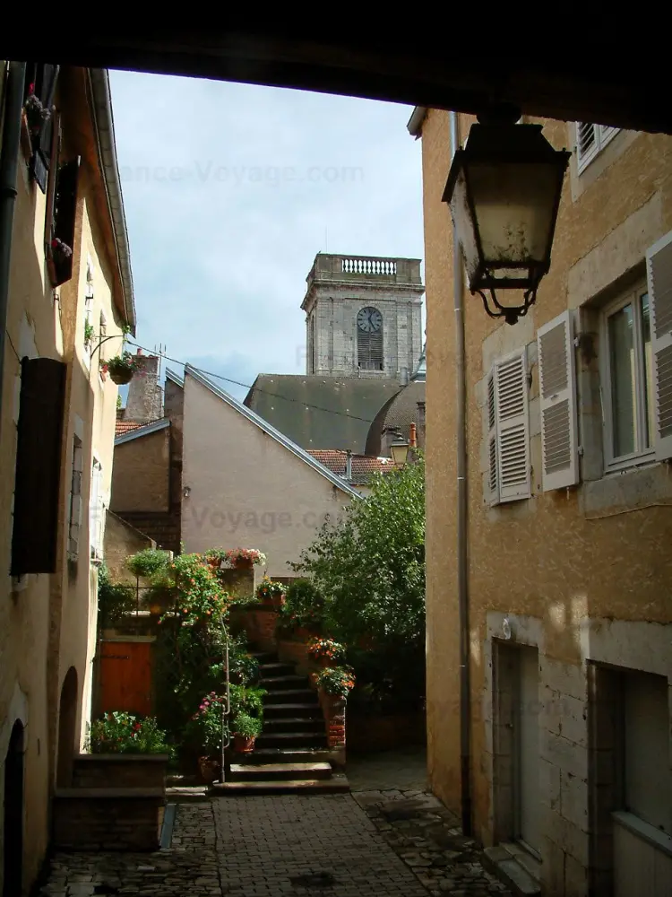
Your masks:
M 246 386 L 303 373 L 317 252 L 423 257 L 411 107 L 128 72 L 110 82 L 138 344 Z

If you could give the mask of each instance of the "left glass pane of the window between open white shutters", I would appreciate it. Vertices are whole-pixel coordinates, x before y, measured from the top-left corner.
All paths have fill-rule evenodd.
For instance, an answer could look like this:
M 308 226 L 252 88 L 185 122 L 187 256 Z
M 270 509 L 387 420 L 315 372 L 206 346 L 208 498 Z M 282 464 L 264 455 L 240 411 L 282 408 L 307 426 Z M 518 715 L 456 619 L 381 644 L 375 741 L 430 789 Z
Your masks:
M 611 368 L 611 418 L 614 457 L 630 455 L 636 447 L 635 362 L 633 306 L 626 305 L 608 319 Z

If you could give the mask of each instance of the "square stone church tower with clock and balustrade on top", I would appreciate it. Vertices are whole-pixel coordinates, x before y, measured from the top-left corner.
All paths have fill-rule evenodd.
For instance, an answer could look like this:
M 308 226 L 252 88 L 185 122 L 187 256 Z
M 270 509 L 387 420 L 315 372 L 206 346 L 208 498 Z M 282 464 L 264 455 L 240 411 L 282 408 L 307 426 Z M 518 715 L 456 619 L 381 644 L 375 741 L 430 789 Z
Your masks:
M 418 258 L 319 252 L 306 283 L 306 374 L 408 382 L 423 344 Z

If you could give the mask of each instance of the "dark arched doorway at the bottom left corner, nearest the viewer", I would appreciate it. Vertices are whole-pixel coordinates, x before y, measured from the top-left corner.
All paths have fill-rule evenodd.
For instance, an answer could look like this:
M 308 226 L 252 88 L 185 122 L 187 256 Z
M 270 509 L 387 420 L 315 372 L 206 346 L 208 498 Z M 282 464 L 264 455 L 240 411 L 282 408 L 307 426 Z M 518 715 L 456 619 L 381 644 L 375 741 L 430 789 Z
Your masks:
M 23 726 L 14 723 L 4 758 L 3 897 L 20 897 L 23 871 Z

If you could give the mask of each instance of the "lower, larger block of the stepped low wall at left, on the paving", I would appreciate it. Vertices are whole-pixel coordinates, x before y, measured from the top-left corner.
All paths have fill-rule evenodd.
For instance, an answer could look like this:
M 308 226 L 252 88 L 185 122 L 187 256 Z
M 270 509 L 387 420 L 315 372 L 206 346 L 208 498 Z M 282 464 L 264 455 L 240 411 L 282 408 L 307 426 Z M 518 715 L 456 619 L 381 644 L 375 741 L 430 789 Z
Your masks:
M 53 844 L 59 850 L 158 850 L 163 788 L 58 788 Z

